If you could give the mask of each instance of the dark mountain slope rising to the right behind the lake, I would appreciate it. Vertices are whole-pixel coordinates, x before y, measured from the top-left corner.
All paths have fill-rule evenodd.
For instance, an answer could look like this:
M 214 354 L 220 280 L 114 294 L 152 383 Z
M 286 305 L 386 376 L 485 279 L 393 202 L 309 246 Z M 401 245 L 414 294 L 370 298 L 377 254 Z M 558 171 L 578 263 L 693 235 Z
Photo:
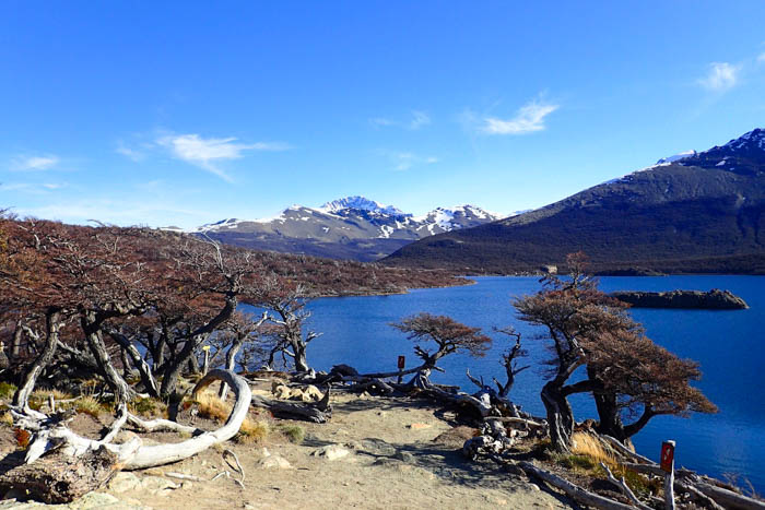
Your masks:
M 765 131 L 433 236 L 384 262 L 467 273 L 536 271 L 582 250 L 596 270 L 765 273 Z

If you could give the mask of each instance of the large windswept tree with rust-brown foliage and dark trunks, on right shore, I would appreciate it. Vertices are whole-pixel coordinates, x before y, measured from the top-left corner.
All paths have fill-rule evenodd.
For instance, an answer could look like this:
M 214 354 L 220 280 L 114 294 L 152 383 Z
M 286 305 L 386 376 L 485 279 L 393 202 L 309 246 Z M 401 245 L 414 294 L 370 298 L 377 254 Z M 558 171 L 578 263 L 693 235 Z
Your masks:
M 695 363 L 678 358 L 645 336 L 640 324 L 626 313 L 626 305 L 598 289 L 597 281 L 586 273 L 584 253 L 568 256 L 567 265 L 567 278 L 549 275 L 542 290 L 514 301 L 520 320 L 544 327 L 552 340 L 550 380 L 541 396 L 557 451 L 570 449 L 574 413 L 568 396 L 574 393 L 591 393 L 599 431 L 622 441 L 658 414 L 715 411 L 690 386 L 701 377 Z M 580 367 L 587 377 L 569 382 Z M 626 426 L 625 408 L 633 415 L 639 412 Z

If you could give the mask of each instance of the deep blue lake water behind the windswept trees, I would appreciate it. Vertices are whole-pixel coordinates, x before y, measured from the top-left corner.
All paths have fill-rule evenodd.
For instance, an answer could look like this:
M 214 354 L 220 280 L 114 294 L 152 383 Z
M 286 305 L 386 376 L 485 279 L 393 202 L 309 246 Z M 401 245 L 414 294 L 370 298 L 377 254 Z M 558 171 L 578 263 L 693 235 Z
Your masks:
M 398 355 L 407 356 L 407 366 L 417 358 L 412 343 L 390 328 L 390 322 L 427 311 L 448 315 L 486 332 L 494 325 L 513 325 L 523 333 L 529 351 L 525 364 L 536 365 L 521 372 L 510 398 L 523 410 L 544 415 L 539 393 L 544 377 L 537 361 L 546 357 L 546 342 L 534 340 L 541 331 L 517 320 L 510 306 L 513 296 L 531 294 L 540 288 L 537 277 L 479 277 L 478 284 L 464 287 L 416 289 L 407 295 L 317 299 L 309 305 L 314 312 L 310 327 L 323 335 L 308 348 L 308 361 L 329 370 L 345 363 L 360 371 L 395 370 Z M 719 407 L 716 415 L 694 414 L 690 418 L 655 417 L 634 439 L 637 450 L 658 458 L 661 441 L 678 442 L 678 465 L 723 476 L 746 476 L 754 487 L 765 491 L 765 277 L 758 276 L 663 276 L 603 277 L 605 292 L 708 290 L 729 289 L 750 305 L 749 310 L 666 310 L 634 309 L 647 334 L 658 344 L 684 358 L 701 363 L 704 378 L 696 386 Z M 492 351 L 483 358 L 450 355 L 439 364 L 446 373 L 434 372 L 433 380 L 476 390 L 466 377 L 492 376 L 502 380 L 499 355 L 509 346 L 494 335 Z M 577 420 L 595 417 L 595 406 L 586 395 L 572 399 Z

